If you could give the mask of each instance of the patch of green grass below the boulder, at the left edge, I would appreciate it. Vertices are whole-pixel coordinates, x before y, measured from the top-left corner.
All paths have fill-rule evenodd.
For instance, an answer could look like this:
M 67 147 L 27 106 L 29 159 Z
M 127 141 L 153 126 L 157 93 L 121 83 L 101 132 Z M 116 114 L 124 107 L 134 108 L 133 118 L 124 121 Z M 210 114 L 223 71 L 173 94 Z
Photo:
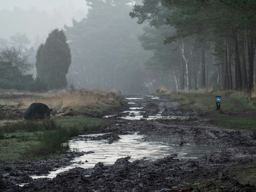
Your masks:
M 66 151 L 68 140 L 79 133 L 76 126 L 61 127 L 52 119 L 21 121 L 0 126 L 0 160 L 27 160 Z M 13 139 L 7 137 L 15 136 Z

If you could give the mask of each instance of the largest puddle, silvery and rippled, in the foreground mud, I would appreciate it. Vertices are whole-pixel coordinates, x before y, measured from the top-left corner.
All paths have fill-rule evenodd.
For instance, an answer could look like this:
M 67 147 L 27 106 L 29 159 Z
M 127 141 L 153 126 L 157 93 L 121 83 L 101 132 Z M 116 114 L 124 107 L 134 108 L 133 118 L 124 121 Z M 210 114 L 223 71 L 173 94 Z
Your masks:
M 87 135 L 88 136 L 88 135 Z M 93 151 L 81 157 L 77 157 L 72 161 L 72 165 L 56 169 L 50 172 L 49 175 L 32 176 L 32 178 L 49 177 L 53 178 L 58 173 L 67 171 L 75 167 L 92 168 L 98 162 L 105 165 L 111 165 L 117 159 L 131 156 L 129 161 L 140 160 L 157 160 L 168 155 L 177 153 L 178 159 L 196 159 L 204 157 L 218 151 L 216 146 L 198 146 L 198 145 L 184 145 L 178 148 L 175 145 L 167 145 L 158 142 L 142 142 L 142 135 L 131 134 L 121 135 L 121 139 L 112 144 L 108 144 L 105 140 L 72 140 L 71 151 Z

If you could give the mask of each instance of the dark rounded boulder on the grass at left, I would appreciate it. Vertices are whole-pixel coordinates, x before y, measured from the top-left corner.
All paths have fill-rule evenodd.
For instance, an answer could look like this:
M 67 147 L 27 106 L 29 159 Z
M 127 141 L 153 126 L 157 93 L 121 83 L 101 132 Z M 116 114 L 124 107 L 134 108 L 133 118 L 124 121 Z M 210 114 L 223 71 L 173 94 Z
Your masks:
M 26 113 L 24 114 L 24 119 L 45 119 L 49 118 L 50 112 L 47 105 L 44 103 L 32 103 Z

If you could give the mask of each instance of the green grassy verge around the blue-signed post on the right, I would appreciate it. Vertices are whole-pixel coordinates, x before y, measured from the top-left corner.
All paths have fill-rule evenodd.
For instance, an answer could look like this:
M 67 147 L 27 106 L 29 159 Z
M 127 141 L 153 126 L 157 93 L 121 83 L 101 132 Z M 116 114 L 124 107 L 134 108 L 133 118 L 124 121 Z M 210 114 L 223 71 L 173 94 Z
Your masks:
M 221 128 L 256 130 L 256 94 L 253 92 L 227 91 L 180 91 L 157 90 L 158 95 L 169 96 L 182 105 L 193 108 Z M 221 96 L 221 110 L 217 111 L 215 96 Z

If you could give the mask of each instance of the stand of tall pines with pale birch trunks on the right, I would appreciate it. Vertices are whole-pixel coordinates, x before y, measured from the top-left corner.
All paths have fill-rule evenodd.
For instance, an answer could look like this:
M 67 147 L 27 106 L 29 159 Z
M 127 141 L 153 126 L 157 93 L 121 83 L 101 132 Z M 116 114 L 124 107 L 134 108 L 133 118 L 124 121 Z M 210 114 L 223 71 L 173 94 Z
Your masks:
M 256 1 L 143 0 L 129 15 L 149 25 L 140 37 L 144 49 L 154 51 L 148 67 L 169 71 L 177 90 L 192 89 L 192 80 L 201 88 L 216 82 L 252 89 Z

